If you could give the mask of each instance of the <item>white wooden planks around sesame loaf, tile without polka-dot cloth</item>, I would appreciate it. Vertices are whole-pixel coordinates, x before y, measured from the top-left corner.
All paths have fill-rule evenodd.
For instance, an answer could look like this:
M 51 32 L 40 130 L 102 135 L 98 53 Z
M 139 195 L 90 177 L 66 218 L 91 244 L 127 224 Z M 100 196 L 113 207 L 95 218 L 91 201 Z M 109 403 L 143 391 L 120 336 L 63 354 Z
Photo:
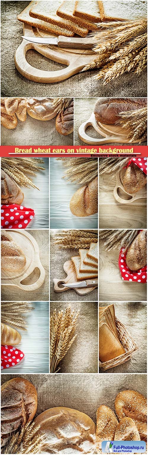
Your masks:
M 75 217 L 69 204 L 74 192 L 82 185 L 62 179 L 65 168 L 61 161 L 50 158 L 50 227 L 58 229 L 96 229 L 97 213 L 90 217 Z

